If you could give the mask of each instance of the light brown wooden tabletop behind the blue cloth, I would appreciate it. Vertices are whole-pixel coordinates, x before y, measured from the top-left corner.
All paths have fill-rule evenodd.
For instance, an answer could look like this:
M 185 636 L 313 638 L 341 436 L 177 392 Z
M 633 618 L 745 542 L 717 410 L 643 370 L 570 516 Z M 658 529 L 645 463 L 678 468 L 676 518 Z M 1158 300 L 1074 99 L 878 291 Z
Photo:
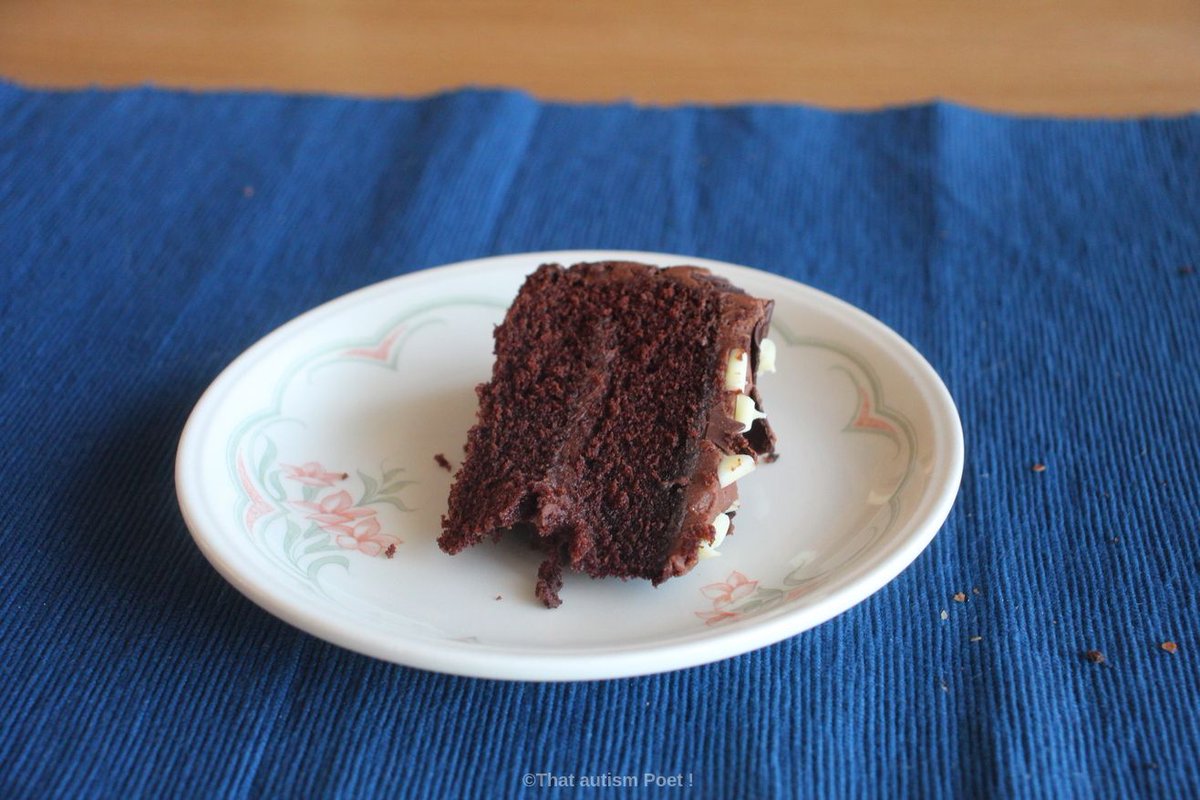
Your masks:
M 1200 109 L 1200 1 L 4 0 L 0 76 L 643 103 Z

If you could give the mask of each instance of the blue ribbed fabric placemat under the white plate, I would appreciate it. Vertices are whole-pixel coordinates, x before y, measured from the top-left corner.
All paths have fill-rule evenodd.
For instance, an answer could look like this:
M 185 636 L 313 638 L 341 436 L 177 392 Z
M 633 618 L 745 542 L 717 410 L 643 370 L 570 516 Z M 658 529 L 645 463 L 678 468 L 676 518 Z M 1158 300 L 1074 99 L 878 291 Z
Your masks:
M 382 278 L 576 247 L 773 270 L 916 344 L 967 446 L 930 549 L 775 646 L 575 685 L 373 661 L 218 578 L 172 463 L 230 359 Z M 0 84 L 0 793 L 1200 793 L 1196 269 L 1196 116 Z

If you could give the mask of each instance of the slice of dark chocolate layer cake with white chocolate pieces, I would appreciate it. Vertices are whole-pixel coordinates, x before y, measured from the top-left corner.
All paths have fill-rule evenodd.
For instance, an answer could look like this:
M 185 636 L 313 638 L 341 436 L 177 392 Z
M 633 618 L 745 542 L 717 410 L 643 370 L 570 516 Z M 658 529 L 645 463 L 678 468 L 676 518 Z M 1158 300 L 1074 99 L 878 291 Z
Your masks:
M 438 545 L 528 535 L 550 607 L 564 567 L 659 584 L 716 554 L 736 481 L 774 453 L 772 307 L 696 266 L 539 267 L 496 329 Z

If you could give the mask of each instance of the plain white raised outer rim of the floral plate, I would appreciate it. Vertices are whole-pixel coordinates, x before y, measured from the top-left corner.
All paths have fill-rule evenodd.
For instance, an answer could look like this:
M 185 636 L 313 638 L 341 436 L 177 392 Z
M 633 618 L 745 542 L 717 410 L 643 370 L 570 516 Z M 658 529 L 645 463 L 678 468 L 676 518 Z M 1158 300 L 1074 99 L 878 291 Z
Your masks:
M 386 290 L 386 288 L 398 283 L 414 285 L 436 282 L 451 272 L 468 272 L 496 261 L 517 259 L 528 259 L 530 264 L 534 261 L 541 264 L 583 260 L 686 263 L 718 267 L 722 272 L 733 273 L 734 282 L 737 282 L 737 273 L 749 273 L 756 282 L 779 283 L 788 291 L 800 290 L 809 294 L 836 315 L 845 315 L 857 323 L 872 338 L 877 338 L 881 344 L 890 345 L 887 348 L 889 353 L 902 355 L 901 366 L 906 372 L 914 373 L 913 385 L 923 390 L 922 398 L 924 405 L 930 410 L 935 439 L 931 451 L 938 455 L 930 479 L 930 489 L 922 495 L 918 506 L 912 512 L 917 519 L 912 533 L 902 537 L 899 546 L 890 553 L 886 553 L 882 560 L 865 570 L 862 577 L 834 589 L 811 604 L 781 609 L 778 614 L 724 627 L 715 636 L 700 636 L 664 643 L 637 643 L 610 648 L 602 652 L 596 652 L 595 649 L 564 649 L 547 652 L 545 650 L 530 651 L 512 646 L 466 644 L 454 640 L 424 640 L 402 636 L 388 638 L 371 627 L 342 627 L 328 614 L 322 613 L 319 607 L 298 604 L 289 596 L 289 591 L 282 588 L 272 590 L 277 584 L 270 581 L 256 581 L 258 571 L 246 569 L 227 558 L 218 542 L 214 541 L 214 539 L 220 539 L 221 534 L 218 533 L 214 537 L 212 534 L 204 530 L 205 525 L 202 524 L 202 519 L 205 515 L 200 510 L 203 504 L 199 503 L 198 497 L 192 497 L 192 494 L 198 495 L 198 487 L 190 485 L 186 470 L 190 465 L 200 463 L 198 451 L 203 441 L 200 433 L 203 433 L 204 423 L 211 421 L 214 410 L 220 408 L 216 404 L 217 401 L 222 398 L 228 385 L 236 384 L 235 379 L 245 371 L 245 366 L 274 348 L 277 342 L 286 341 L 294 332 L 305 329 L 313 319 L 336 313 L 338 307 L 352 305 L 368 294 Z M 944 437 L 944 441 L 937 441 L 941 437 Z M 948 459 L 941 458 L 943 452 L 949 456 Z M 414 270 L 328 300 L 275 327 L 230 361 L 200 395 L 180 433 L 174 477 L 175 494 L 184 522 L 205 559 L 239 593 L 284 622 L 338 646 L 409 667 L 482 679 L 571 681 L 629 678 L 712 663 L 775 644 L 853 608 L 907 569 L 941 530 L 959 493 L 964 458 L 962 423 L 944 381 L 929 361 L 902 336 L 845 300 L 774 272 L 709 258 L 650 251 L 559 249 L 503 253 Z M 938 474 L 941 477 L 935 481 L 934 479 Z M 220 524 L 216 527 L 221 528 Z

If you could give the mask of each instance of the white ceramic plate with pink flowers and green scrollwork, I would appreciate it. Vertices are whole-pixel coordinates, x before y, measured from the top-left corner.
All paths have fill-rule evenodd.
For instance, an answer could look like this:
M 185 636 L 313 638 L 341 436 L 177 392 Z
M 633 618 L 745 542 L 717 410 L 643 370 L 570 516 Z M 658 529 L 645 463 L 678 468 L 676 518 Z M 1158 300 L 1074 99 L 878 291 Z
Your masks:
M 492 363 L 492 327 L 539 264 L 698 264 L 774 297 L 762 378 L 782 457 L 739 485 L 720 558 L 654 588 L 539 555 L 436 543 Z M 504 255 L 416 272 L 288 323 L 196 405 L 175 482 L 205 557 L 256 603 L 335 644 L 481 678 L 580 680 L 726 658 L 823 622 L 894 578 L 954 501 L 962 431 L 929 363 L 865 313 L 775 275 L 662 253 Z

